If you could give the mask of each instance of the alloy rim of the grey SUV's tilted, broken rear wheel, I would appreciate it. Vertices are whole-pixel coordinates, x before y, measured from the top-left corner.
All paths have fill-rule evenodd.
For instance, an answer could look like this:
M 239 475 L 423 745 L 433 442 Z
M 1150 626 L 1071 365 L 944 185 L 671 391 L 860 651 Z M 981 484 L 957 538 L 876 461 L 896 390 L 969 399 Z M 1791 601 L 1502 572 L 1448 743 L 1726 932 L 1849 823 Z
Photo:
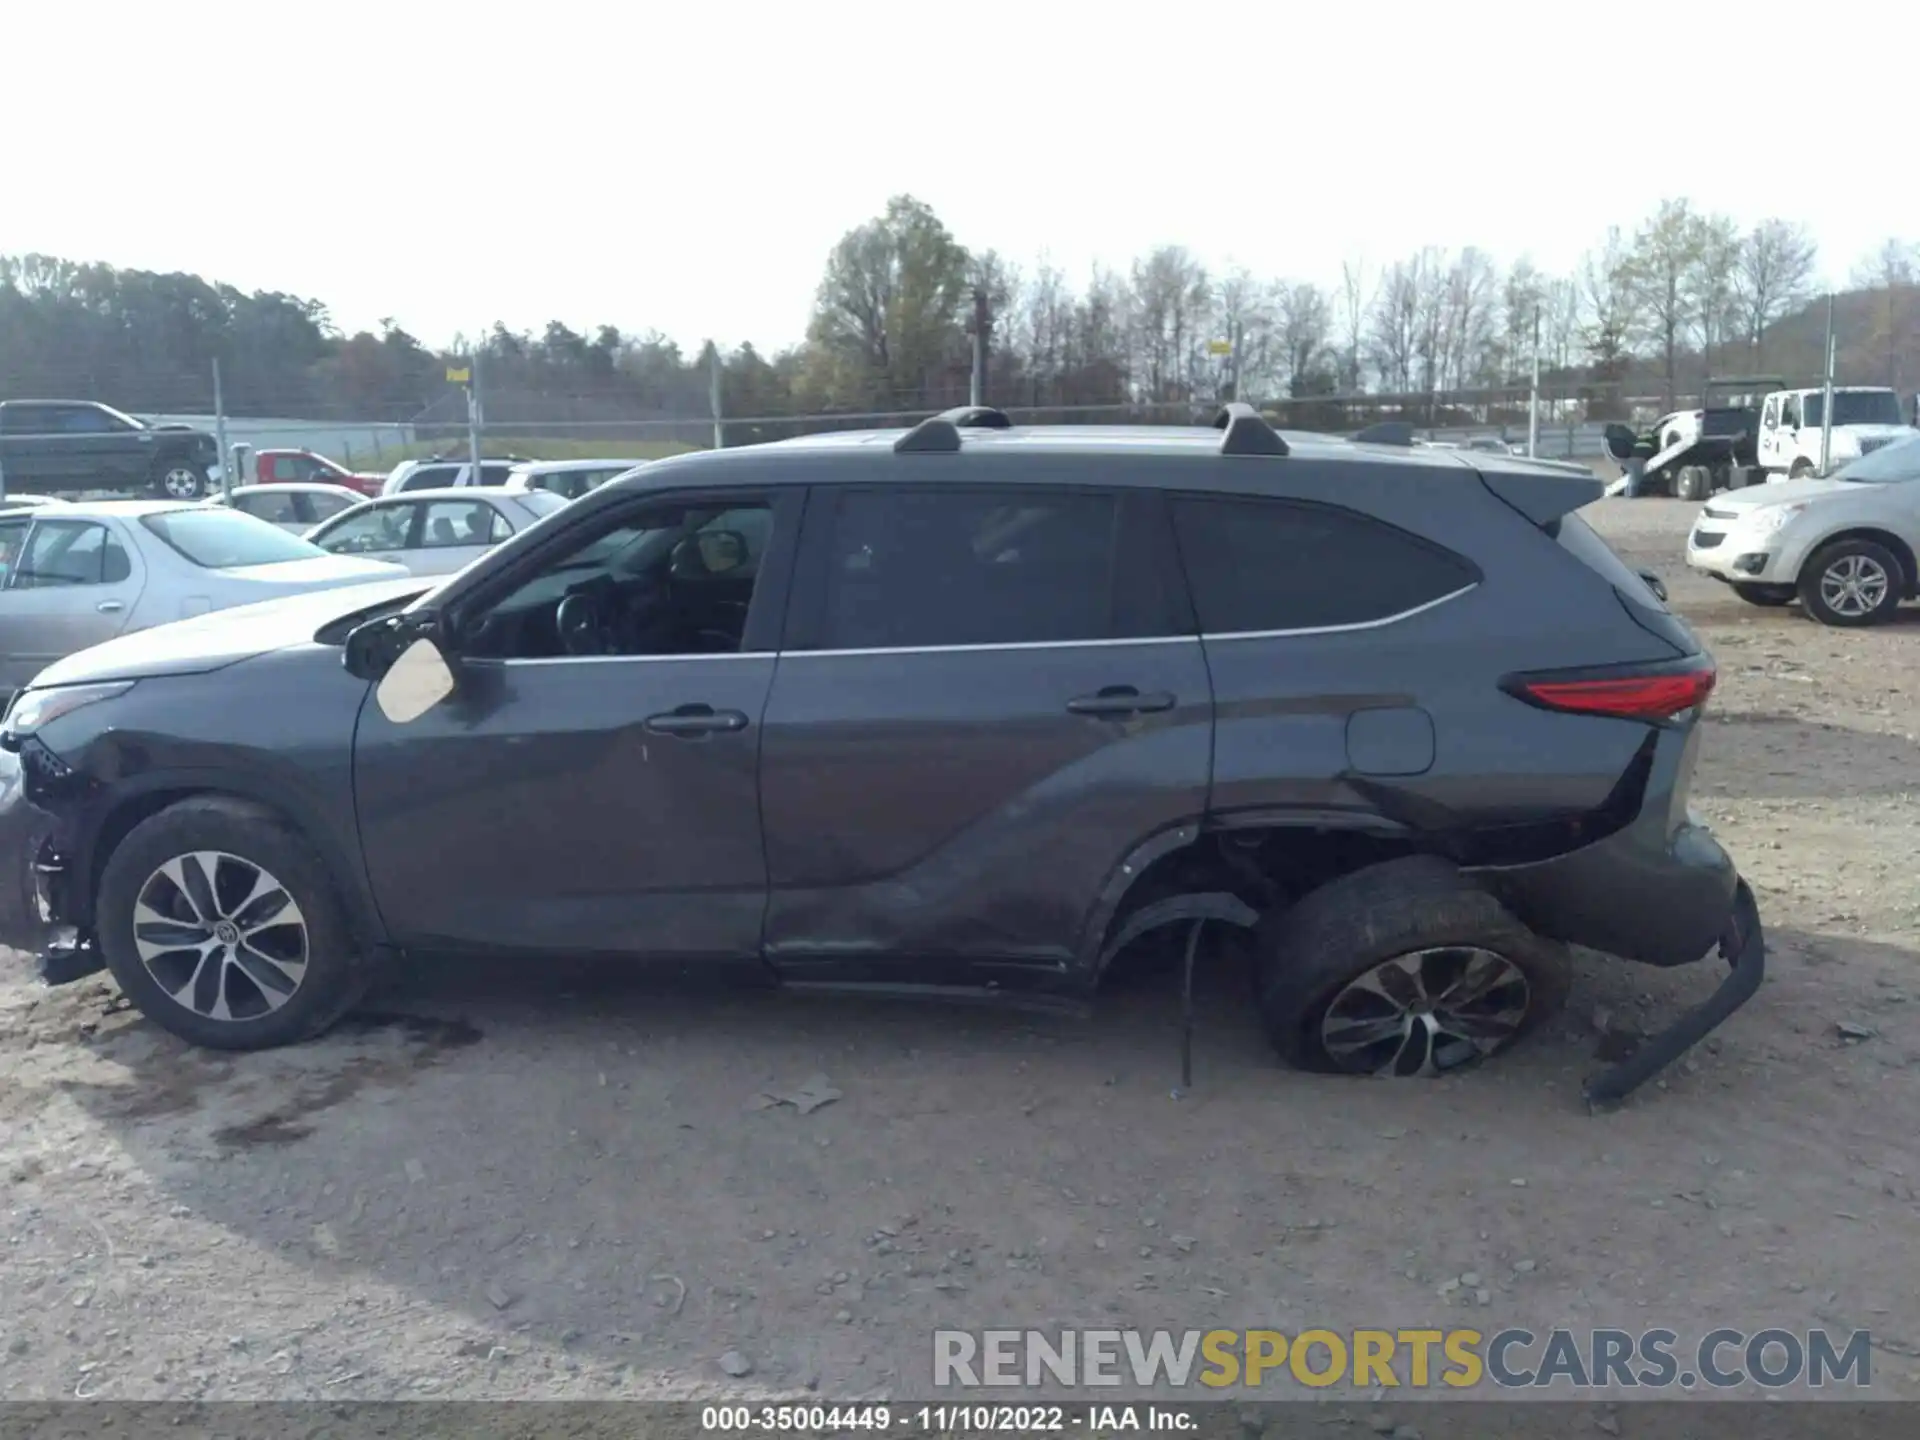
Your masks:
M 1532 1004 L 1526 975 L 1494 950 L 1446 945 L 1382 960 L 1321 1018 L 1321 1048 L 1357 1075 L 1438 1075 L 1500 1050 Z

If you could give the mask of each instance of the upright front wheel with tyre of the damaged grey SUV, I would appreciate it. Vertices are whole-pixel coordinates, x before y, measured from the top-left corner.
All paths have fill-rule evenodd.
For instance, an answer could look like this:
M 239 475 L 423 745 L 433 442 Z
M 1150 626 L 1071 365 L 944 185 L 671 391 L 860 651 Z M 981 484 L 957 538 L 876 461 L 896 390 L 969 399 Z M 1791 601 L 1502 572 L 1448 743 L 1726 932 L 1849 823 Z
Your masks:
M 324 862 L 244 801 L 180 801 L 134 826 L 100 877 L 94 931 L 140 1014 L 215 1050 L 311 1039 L 367 985 Z

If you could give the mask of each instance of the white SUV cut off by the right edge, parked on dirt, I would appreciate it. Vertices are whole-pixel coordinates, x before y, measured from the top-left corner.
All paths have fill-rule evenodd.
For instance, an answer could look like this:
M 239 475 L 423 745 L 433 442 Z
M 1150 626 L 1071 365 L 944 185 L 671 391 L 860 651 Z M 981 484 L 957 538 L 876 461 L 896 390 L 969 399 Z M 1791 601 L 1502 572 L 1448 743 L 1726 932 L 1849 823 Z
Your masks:
M 1795 599 L 1820 624 L 1866 626 L 1920 597 L 1920 436 L 1862 455 L 1826 480 L 1715 495 L 1686 563 L 1751 605 Z

